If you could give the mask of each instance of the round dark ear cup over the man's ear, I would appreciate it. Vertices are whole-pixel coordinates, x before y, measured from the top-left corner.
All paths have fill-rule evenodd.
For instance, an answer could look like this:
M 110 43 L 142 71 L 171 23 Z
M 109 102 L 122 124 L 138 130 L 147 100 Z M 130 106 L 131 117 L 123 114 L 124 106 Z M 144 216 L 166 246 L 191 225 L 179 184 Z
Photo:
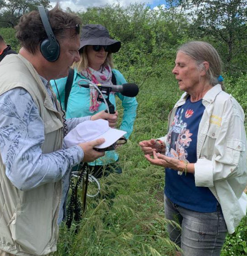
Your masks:
M 40 52 L 44 56 L 45 60 L 53 62 L 58 60 L 60 54 L 60 45 L 58 41 L 51 42 L 48 39 L 40 42 Z

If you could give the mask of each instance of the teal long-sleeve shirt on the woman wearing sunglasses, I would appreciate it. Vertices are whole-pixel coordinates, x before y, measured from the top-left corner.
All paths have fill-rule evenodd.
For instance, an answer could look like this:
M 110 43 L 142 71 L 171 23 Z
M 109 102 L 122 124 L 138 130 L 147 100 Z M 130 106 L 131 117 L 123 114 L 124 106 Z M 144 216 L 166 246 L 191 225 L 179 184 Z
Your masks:
M 116 77 L 116 84 L 122 85 L 126 83 L 123 75 L 120 71 L 113 69 L 112 70 Z M 89 103 L 90 103 L 90 90 L 88 88 L 83 88 L 78 85 L 78 81 L 80 79 L 86 79 L 82 74 L 78 73 L 77 70 L 74 70 L 74 80 L 72 84 L 72 88 L 70 91 L 69 99 L 67 102 L 67 111 L 66 118 L 72 117 L 86 117 L 88 115 L 94 115 L 97 112 L 107 109 L 104 103 L 101 103 L 99 106 L 99 110 L 97 112 L 91 113 L 89 111 Z M 67 77 L 58 80 L 51 80 L 51 86 L 55 91 L 56 95 L 61 99 L 61 105 L 64 109 L 64 97 L 65 97 L 65 85 L 66 85 Z M 56 85 L 58 90 L 56 89 Z M 127 97 L 121 95 L 121 93 L 115 93 L 118 98 L 122 101 L 122 106 L 124 109 L 123 119 L 120 125 L 120 129 L 126 131 L 127 133 L 124 135 L 127 139 L 131 135 L 133 131 L 134 121 L 136 117 L 137 110 L 137 100 L 135 98 Z M 116 109 L 116 99 L 113 93 L 110 93 L 110 102 L 115 106 Z M 105 152 L 105 156 L 98 158 L 96 161 L 89 163 L 89 165 L 107 165 L 110 163 L 115 163 L 118 160 L 118 153 L 113 151 Z

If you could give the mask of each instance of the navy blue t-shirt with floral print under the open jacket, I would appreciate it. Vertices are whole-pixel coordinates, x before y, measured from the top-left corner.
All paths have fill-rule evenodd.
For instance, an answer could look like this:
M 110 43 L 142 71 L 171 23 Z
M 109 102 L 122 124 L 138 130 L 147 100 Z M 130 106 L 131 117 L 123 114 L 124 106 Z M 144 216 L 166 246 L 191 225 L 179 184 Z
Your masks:
M 167 134 L 165 155 L 197 161 L 197 133 L 205 107 L 200 101 L 186 103 L 178 107 L 172 126 Z M 208 187 L 196 187 L 194 174 L 178 175 L 178 171 L 165 169 L 165 195 L 175 204 L 197 212 L 215 212 L 217 200 Z

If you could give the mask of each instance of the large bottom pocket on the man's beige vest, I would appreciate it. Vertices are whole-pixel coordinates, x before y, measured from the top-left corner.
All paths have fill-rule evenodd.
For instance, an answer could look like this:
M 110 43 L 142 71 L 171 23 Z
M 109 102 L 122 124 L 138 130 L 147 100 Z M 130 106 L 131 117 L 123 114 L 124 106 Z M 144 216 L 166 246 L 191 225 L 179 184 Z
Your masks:
M 13 214 L 9 227 L 13 241 L 27 254 L 42 255 L 51 239 L 50 200 L 22 204 Z

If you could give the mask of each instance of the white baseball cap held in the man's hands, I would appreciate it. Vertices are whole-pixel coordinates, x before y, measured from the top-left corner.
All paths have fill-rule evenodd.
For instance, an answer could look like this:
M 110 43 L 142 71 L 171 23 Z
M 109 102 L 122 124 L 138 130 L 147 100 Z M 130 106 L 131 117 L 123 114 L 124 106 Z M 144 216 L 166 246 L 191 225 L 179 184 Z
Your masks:
M 104 149 L 118 141 L 118 139 L 120 139 L 124 134 L 126 134 L 126 131 L 110 128 L 107 120 L 88 120 L 79 123 L 74 129 L 72 129 L 64 137 L 64 144 L 66 148 L 68 148 L 83 142 L 95 141 L 96 139 L 104 138 L 105 142 L 96 146 L 97 149 Z

